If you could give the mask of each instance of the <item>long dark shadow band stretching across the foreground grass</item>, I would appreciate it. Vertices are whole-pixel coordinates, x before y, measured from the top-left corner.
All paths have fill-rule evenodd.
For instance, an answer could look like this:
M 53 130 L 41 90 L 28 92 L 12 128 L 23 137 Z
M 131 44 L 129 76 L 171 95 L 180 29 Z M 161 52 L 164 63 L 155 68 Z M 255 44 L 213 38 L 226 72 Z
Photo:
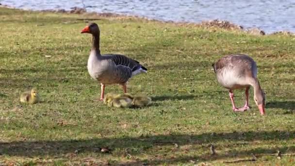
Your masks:
M 174 146 L 174 143 L 179 146 L 184 145 L 198 145 L 204 149 L 209 149 L 210 144 L 218 144 L 217 142 L 226 141 L 228 145 L 223 145 L 226 147 L 239 146 L 241 142 L 243 144 L 248 144 L 251 141 L 268 141 L 268 140 L 292 140 L 295 137 L 295 131 L 270 131 L 270 132 L 233 132 L 233 133 L 202 133 L 195 135 L 153 135 L 153 136 L 141 136 L 141 137 L 122 137 L 122 138 L 96 138 L 89 140 L 44 140 L 44 141 L 12 141 L 12 142 L 0 142 L 0 155 L 9 156 L 24 156 L 24 157 L 34 157 L 34 156 L 64 156 L 68 153 L 79 152 L 89 152 L 89 153 L 100 153 L 100 148 L 109 147 L 111 149 L 129 149 L 131 155 L 137 155 L 144 153 L 152 147 L 161 146 Z M 219 147 L 220 148 L 220 147 Z M 141 149 L 141 150 L 139 150 Z M 170 148 L 168 148 L 170 149 Z M 293 150 L 294 147 L 288 147 L 281 149 Z M 249 156 L 251 153 L 273 153 L 277 149 L 252 149 L 248 151 L 232 151 L 227 157 L 233 157 L 234 154 L 238 154 L 239 157 L 243 155 Z M 209 150 L 205 150 L 208 152 Z M 172 151 L 173 152 L 173 151 Z M 207 155 L 207 156 L 208 156 Z M 217 157 L 226 157 L 219 155 Z M 214 157 L 204 156 L 185 156 L 180 158 L 169 159 L 169 157 L 164 157 L 164 160 L 152 160 L 148 161 L 149 164 L 158 164 L 163 162 L 176 163 L 182 161 L 189 161 L 191 159 L 200 160 L 212 160 Z M 168 158 L 168 159 L 167 159 Z M 145 161 L 140 161 L 145 162 Z M 131 163 L 130 163 L 131 164 Z M 136 165 L 133 163 L 131 165 Z

